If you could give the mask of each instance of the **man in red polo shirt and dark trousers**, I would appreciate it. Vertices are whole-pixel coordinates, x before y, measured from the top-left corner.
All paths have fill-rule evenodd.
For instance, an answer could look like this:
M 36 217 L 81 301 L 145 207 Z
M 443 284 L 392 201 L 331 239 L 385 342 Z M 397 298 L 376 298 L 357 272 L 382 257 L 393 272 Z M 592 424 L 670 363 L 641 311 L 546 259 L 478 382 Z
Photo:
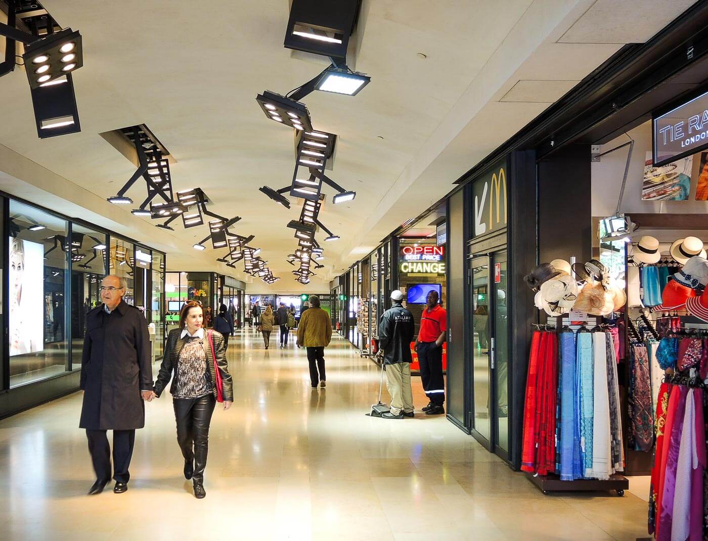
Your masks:
M 447 332 L 447 312 L 438 304 L 438 292 L 428 293 L 428 306 L 423 309 L 421 330 L 418 331 L 416 351 L 421 365 L 423 389 L 430 401 L 423 411 L 426 415 L 445 413 L 445 380 L 442 379 L 442 343 Z

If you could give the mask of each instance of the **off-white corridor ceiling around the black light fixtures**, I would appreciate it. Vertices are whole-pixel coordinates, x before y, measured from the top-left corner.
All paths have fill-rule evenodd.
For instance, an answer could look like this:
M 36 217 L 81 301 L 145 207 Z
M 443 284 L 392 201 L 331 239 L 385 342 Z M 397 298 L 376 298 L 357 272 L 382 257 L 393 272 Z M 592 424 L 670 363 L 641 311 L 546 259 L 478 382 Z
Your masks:
M 641 16 L 645 39 L 686 2 L 656 4 L 656 13 Z M 191 249 L 206 228 L 165 232 L 105 203 L 135 168 L 98 134 L 145 123 L 176 159 L 176 190 L 200 186 L 215 201 L 213 211 L 241 216 L 234 231 L 256 235 L 253 244 L 283 278 L 272 288 L 253 287 L 304 289 L 285 263 L 296 244 L 285 224 L 299 208 L 285 210 L 258 192 L 264 184 L 290 183 L 292 131 L 268 121 L 254 98 L 265 89 L 286 93 L 321 65 L 282 47 L 287 0 L 195 5 L 46 0 L 59 24 L 83 35 L 84 67 L 74 74 L 81 133 L 38 139 L 22 68 L 4 77 L 0 186 L 165 249 L 171 270 L 233 275 L 215 262 L 222 254 Z M 603 25 L 602 43 L 582 38 L 587 24 L 600 24 L 593 22 L 598 9 L 603 18 L 627 18 L 644 6 L 639 0 L 364 0 L 356 69 L 370 74 L 371 84 L 353 98 L 324 92 L 304 98 L 314 126 L 339 136 L 329 175 L 358 192 L 351 203 L 328 201 L 321 213 L 341 241 L 326 243 L 326 268 L 309 289 L 326 289 L 326 280 L 435 203 L 464 171 L 612 55 L 627 39 L 627 25 Z M 559 42 L 573 32 L 581 37 L 572 41 L 581 43 Z M 128 195 L 142 200 L 144 185 Z

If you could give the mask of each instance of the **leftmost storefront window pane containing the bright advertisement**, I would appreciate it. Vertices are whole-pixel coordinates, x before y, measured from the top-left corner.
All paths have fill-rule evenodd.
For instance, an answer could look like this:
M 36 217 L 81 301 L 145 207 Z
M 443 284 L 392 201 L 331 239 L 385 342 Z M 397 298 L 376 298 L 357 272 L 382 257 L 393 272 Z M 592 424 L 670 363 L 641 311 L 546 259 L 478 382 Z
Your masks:
M 67 370 L 65 281 L 69 223 L 10 202 L 10 387 Z

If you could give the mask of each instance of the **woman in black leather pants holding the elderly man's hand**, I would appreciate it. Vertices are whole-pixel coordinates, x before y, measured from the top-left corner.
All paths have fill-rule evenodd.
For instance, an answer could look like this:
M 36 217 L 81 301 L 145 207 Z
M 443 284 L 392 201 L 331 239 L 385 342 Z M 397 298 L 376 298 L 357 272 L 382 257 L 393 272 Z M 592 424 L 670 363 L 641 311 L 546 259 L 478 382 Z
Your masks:
M 217 402 L 229 409 L 234 402 L 224 337 L 205 331 L 204 310 L 196 301 L 185 303 L 179 326 L 167 336 L 154 392 L 162 394 L 172 375 L 170 393 L 177 421 L 177 442 L 184 457 L 184 477 L 192 479 L 194 495 L 203 498 L 204 469 L 209 450 L 209 426 Z

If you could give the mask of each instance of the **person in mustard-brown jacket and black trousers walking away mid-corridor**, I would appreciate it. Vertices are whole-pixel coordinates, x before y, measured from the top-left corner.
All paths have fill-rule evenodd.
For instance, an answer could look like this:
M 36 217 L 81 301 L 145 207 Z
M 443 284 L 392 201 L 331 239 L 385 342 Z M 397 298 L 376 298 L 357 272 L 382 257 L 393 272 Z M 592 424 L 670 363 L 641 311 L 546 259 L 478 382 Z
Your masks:
M 332 339 L 332 320 L 329 314 L 319 306 L 319 297 L 309 296 L 307 310 L 303 309 L 300 324 L 297 326 L 297 347 L 307 348 L 307 361 L 310 368 L 312 390 L 317 390 L 317 382 L 324 389 L 327 377 L 324 372 L 324 348 Z M 318 376 L 319 372 L 319 376 Z

